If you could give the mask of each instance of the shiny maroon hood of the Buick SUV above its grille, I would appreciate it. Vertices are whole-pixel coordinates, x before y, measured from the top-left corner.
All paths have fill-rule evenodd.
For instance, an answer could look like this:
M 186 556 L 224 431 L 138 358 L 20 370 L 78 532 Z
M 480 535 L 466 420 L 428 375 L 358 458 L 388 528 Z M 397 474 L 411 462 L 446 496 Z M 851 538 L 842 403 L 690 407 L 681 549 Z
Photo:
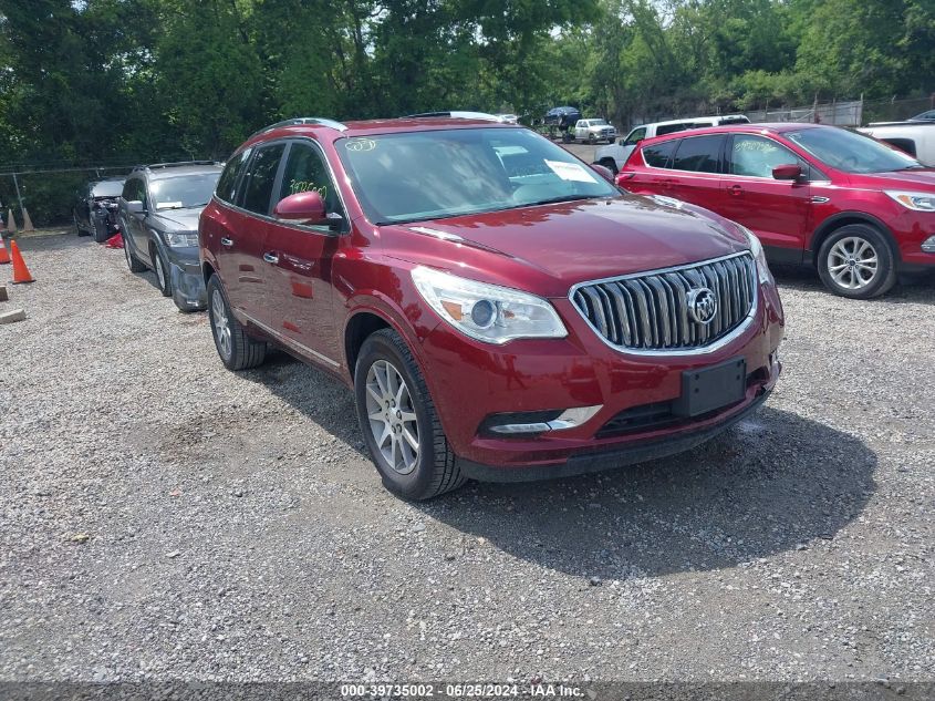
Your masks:
M 544 297 L 564 297 L 585 280 L 697 262 L 749 247 L 736 226 L 714 213 L 635 195 L 384 229 L 392 229 L 384 245 L 407 260 Z

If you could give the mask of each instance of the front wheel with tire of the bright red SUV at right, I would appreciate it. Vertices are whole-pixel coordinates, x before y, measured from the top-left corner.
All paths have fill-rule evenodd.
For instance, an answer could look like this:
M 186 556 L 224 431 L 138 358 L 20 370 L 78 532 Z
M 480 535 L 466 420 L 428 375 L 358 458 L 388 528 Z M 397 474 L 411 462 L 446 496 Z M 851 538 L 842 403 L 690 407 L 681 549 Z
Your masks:
M 886 236 L 869 224 L 848 224 L 821 245 L 818 274 L 835 295 L 870 299 L 896 284 L 896 259 Z

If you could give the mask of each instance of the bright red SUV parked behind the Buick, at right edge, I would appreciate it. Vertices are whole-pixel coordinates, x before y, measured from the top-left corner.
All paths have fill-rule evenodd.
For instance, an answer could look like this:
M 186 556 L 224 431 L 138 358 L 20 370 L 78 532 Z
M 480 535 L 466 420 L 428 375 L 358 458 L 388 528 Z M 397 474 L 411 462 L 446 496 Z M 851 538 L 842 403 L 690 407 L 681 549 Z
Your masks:
M 935 171 L 869 136 L 818 124 L 741 124 L 642 142 L 617 184 L 749 227 L 776 262 L 813 265 L 844 297 L 935 270 Z

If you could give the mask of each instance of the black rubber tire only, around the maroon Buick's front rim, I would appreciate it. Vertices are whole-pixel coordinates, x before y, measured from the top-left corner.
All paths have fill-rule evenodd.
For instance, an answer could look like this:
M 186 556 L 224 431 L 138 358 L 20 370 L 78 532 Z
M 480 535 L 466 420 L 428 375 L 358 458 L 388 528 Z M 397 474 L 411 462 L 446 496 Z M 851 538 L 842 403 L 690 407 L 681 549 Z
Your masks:
M 371 432 L 367 419 L 366 379 L 371 365 L 377 360 L 388 360 L 403 375 L 416 412 L 419 455 L 416 468 L 408 475 L 397 474 L 392 467 L 384 465 L 383 456 Z M 381 329 L 364 341 L 354 369 L 354 399 L 364 443 L 387 489 L 406 499 L 423 501 L 456 489 L 467 481 L 467 477 L 463 476 L 458 470 L 455 453 L 441 430 L 441 422 L 438 420 L 425 379 L 408 346 L 396 331 Z

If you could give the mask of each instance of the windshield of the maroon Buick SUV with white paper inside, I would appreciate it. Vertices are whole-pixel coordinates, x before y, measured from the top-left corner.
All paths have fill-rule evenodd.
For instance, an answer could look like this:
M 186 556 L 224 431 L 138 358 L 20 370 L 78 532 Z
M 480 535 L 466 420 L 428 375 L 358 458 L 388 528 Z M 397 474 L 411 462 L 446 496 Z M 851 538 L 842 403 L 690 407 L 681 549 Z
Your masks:
M 562 147 L 526 128 L 406 132 L 335 145 L 375 224 L 619 194 Z

